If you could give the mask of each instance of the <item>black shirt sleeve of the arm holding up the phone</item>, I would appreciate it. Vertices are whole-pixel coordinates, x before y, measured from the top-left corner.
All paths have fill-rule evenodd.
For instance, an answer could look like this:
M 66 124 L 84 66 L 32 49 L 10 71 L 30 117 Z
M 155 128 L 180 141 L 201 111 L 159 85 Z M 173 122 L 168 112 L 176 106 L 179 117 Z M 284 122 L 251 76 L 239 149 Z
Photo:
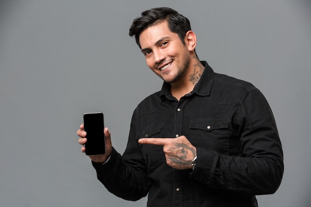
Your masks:
M 135 126 L 132 119 L 127 149 L 121 156 L 114 148 L 110 160 L 105 164 L 92 162 L 98 180 L 114 195 L 130 201 L 147 196 L 151 181 L 147 176 L 138 141 L 135 139 Z M 130 158 L 130 159 L 128 159 Z

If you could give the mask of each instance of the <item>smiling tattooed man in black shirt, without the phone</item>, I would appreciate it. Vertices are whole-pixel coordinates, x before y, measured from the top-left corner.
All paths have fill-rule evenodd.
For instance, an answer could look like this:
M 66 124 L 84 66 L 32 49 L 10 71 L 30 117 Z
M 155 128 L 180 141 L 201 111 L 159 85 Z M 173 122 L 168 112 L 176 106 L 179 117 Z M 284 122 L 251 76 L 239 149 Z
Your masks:
M 144 11 L 130 36 L 164 83 L 135 109 L 122 156 L 104 129 L 106 153 L 90 158 L 108 191 L 148 194 L 148 207 L 256 207 L 255 195 L 274 193 L 283 152 L 260 91 L 200 62 L 189 20 L 173 9 Z M 83 145 L 83 125 L 77 134 Z

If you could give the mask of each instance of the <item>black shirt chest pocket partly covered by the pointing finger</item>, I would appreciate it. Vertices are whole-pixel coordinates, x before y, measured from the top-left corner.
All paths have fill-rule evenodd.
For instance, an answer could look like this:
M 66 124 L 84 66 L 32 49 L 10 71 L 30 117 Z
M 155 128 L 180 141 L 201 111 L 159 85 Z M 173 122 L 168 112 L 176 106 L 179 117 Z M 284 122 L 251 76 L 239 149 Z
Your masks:
M 148 126 L 137 132 L 137 140 L 140 138 L 162 138 L 162 124 Z M 153 144 L 140 144 L 148 173 L 154 171 L 159 165 L 166 163 L 163 146 Z

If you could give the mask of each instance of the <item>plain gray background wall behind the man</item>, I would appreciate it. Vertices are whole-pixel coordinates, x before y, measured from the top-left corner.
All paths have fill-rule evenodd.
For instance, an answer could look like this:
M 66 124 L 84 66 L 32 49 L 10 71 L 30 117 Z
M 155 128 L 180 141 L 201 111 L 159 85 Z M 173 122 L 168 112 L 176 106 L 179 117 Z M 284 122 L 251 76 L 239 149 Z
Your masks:
M 123 153 L 133 110 L 162 84 L 128 36 L 155 6 L 187 16 L 200 59 L 270 103 L 285 173 L 259 205 L 309 207 L 310 0 L 0 1 L 0 206 L 146 206 L 107 192 L 76 131 L 84 112 L 102 111 Z

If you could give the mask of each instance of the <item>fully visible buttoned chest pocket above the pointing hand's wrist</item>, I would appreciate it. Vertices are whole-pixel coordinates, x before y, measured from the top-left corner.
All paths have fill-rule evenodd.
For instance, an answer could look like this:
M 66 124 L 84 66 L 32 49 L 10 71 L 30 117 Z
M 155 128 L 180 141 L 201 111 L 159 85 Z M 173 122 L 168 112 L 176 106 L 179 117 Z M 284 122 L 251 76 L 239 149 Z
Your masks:
M 229 154 L 229 118 L 191 121 L 190 136 L 194 146 Z

